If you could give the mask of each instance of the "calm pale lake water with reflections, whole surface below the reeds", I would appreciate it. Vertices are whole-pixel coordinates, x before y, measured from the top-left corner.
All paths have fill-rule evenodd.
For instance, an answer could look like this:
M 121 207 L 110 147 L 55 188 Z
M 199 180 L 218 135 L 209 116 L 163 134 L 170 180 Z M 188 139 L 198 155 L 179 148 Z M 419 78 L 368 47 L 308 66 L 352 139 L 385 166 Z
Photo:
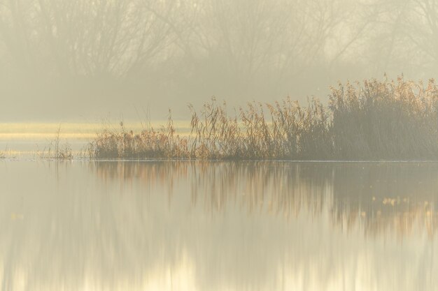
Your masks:
M 0 290 L 438 290 L 438 163 L 0 161 Z

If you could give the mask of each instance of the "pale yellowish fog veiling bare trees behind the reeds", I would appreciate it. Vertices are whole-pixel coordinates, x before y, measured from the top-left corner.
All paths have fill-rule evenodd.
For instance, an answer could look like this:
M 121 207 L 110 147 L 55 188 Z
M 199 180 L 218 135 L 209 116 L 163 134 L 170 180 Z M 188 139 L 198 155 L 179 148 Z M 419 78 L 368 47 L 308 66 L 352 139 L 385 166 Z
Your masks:
M 0 121 L 187 119 L 438 73 L 435 0 L 0 0 Z

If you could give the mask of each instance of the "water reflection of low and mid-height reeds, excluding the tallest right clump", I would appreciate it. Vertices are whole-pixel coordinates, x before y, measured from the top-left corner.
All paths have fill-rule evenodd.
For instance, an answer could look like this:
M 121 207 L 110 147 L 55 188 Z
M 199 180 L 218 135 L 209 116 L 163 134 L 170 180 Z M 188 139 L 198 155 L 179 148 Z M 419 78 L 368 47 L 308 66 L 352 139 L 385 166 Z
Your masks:
M 330 195 L 332 169 L 327 164 L 280 162 L 96 162 L 95 172 L 104 181 L 134 180 L 143 186 L 165 186 L 173 193 L 178 181 L 190 182 L 194 205 L 221 211 L 239 204 L 249 212 L 297 215 L 302 207 L 313 214 L 323 210 Z

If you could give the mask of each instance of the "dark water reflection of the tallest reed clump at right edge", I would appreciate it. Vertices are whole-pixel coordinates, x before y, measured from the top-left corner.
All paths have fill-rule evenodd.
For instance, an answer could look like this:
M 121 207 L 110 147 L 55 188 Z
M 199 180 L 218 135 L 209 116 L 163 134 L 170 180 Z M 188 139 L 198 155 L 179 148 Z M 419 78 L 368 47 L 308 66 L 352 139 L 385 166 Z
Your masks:
M 362 222 L 370 235 L 395 231 L 398 237 L 425 228 L 432 237 L 438 226 L 438 164 L 347 163 L 334 171 L 337 224 Z

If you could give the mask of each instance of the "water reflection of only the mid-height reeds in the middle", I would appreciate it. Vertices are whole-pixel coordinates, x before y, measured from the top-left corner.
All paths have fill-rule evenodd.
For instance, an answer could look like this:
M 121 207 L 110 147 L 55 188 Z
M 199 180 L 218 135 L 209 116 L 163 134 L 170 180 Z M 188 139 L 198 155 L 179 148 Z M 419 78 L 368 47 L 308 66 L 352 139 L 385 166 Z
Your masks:
M 309 165 L 297 163 L 218 163 L 213 167 L 207 163 L 190 181 L 192 196 L 204 193 L 205 207 L 211 211 L 234 203 L 250 213 L 297 216 L 302 207 L 313 214 L 323 210 L 331 192 L 327 174 L 325 169 L 312 172 Z

